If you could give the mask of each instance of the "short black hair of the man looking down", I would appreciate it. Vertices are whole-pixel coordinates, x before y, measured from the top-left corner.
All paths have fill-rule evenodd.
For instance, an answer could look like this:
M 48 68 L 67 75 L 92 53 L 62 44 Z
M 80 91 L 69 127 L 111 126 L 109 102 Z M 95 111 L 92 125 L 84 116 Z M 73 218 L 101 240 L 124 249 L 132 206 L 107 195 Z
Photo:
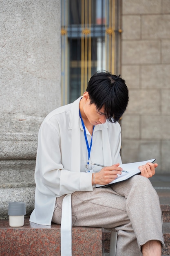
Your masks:
M 98 111 L 104 106 L 108 121 L 111 123 L 119 121 L 129 100 L 128 88 L 120 75 L 98 71 L 89 80 L 86 91 L 89 94 L 90 103 L 94 103 Z

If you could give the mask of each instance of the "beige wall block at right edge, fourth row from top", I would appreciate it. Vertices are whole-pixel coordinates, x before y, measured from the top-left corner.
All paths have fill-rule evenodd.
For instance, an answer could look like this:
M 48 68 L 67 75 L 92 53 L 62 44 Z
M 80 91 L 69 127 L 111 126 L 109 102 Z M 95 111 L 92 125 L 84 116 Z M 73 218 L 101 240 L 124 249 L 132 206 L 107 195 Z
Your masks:
M 170 88 L 169 81 L 170 64 L 141 66 L 141 88 Z

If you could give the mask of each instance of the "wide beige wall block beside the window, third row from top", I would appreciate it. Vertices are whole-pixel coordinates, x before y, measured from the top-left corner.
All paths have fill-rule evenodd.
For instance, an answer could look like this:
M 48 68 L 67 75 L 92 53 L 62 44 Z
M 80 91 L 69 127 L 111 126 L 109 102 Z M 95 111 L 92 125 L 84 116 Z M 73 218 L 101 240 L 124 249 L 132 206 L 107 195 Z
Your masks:
M 160 63 L 159 40 L 122 41 L 122 64 Z

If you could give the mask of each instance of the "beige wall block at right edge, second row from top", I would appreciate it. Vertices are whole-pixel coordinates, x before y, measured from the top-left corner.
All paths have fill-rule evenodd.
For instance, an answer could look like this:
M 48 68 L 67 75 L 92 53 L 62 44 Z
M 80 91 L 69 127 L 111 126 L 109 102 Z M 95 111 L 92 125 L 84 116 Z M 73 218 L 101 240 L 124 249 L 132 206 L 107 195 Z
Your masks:
M 142 39 L 170 38 L 170 14 L 142 17 Z

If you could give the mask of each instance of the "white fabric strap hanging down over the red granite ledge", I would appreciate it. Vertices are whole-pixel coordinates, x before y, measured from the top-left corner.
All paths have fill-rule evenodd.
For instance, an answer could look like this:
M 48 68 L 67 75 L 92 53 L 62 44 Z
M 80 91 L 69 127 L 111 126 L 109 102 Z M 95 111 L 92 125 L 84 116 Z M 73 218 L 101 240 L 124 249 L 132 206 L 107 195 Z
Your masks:
M 72 255 L 72 216 L 71 216 L 71 194 L 64 197 L 62 202 L 61 221 L 61 256 Z

